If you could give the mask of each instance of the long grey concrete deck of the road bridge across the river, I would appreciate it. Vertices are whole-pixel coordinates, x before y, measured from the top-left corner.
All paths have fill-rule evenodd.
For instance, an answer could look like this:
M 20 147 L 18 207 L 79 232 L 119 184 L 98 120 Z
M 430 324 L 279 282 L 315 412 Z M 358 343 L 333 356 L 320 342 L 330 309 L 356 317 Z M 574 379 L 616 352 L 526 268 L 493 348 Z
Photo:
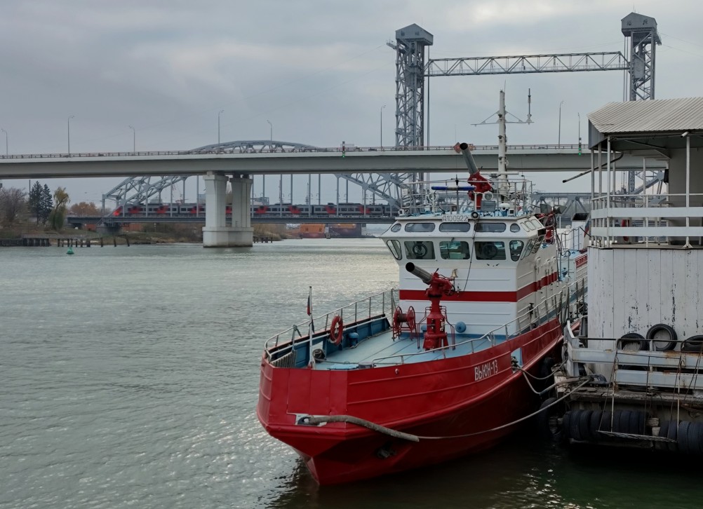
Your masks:
M 484 171 L 497 171 L 498 147 L 476 146 L 474 159 Z M 591 168 L 588 153 L 578 145 L 510 145 L 510 171 L 584 171 Z M 648 161 L 663 168 L 665 161 Z M 641 169 L 642 159 L 625 154 L 619 170 Z M 292 152 L 100 152 L 24 154 L 0 157 L 0 179 L 128 177 L 163 175 L 267 175 L 309 173 L 463 172 L 463 156 L 453 147 L 354 147 Z

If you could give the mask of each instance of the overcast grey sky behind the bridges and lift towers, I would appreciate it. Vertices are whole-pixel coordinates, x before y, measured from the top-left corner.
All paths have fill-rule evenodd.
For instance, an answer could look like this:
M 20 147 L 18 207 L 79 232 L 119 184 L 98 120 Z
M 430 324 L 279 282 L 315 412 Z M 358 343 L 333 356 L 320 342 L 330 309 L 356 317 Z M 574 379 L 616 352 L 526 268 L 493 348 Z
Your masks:
M 136 150 L 188 150 L 217 143 L 224 110 L 223 142 L 267 139 L 270 121 L 274 140 L 369 146 L 380 143 L 382 112 L 392 145 L 386 42 L 396 29 L 432 33 L 430 58 L 622 51 L 621 18 L 633 10 L 655 18 L 662 37 L 656 97 L 701 95 L 697 0 L 2 0 L 0 127 L 10 154 L 66 152 L 71 115 L 72 152 L 131 151 L 130 125 Z M 532 95 L 534 124 L 509 125 L 509 144 L 576 143 L 579 114 L 585 138 L 588 112 L 623 99 L 623 73 L 433 78 L 430 145 L 495 143 L 496 126 L 471 124 L 497 110 L 503 87 L 521 119 Z M 77 202 L 98 201 L 121 180 L 46 183 Z M 278 179 L 270 182 L 277 201 Z

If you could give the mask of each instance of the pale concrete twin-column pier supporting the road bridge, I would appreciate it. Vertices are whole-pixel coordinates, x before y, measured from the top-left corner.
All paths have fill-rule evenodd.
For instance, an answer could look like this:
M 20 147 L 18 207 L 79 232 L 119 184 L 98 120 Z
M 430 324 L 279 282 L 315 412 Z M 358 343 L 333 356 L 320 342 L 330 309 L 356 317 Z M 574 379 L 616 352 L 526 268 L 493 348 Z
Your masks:
M 227 177 L 208 172 L 205 180 L 205 226 L 203 247 L 252 246 L 254 229 L 251 220 L 252 179 L 233 177 L 232 223 L 226 224 Z

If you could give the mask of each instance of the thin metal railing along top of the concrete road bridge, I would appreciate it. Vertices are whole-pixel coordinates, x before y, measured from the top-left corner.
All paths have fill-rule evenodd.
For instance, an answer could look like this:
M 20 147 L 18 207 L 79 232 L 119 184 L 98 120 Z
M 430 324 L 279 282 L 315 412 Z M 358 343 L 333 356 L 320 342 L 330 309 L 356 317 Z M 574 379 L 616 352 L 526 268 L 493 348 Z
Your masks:
M 576 150 L 579 145 L 508 145 L 508 153 L 515 150 Z M 434 145 L 427 147 L 345 147 L 345 154 L 354 152 L 418 152 L 418 151 L 454 151 L 453 145 Z M 496 151 L 498 145 L 475 145 L 472 152 Z M 58 154 L 9 154 L 0 155 L 2 159 L 75 159 L 81 157 L 144 157 L 144 156 L 186 156 L 186 155 L 227 155 L 227 154 L 281 154 L 281 153 L 307 153 L 307 152 L 337 152 L 342 153 L 342 147 L 319 147 L 319 148 L 293 148 L 283 147 L 266 148 L 262 150 L 252 150 L 247 148 L 235 148 L 226 150 L 155 150 L 150 152 L 72 152 Z

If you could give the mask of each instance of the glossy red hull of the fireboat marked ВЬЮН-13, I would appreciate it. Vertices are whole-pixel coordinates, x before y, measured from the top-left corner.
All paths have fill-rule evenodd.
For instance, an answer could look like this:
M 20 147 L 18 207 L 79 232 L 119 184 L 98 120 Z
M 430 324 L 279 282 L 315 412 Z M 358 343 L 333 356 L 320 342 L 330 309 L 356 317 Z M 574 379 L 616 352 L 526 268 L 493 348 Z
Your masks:
M 320 484 L 432 465 L 488 449 L 516 430 L 501 426 L 536 410 L 539 398 L 511 357 L 519 349 L 522 368 L 536 375 L 542 359 L 559 356 L 561 339 L 553 319 L 486 350 L 430 362 L 334 371 L 274 367 L 264 358 L 257 415 Z M 354 416 L 420 440 L 351 423 L 296 424 L 305 415 Z

